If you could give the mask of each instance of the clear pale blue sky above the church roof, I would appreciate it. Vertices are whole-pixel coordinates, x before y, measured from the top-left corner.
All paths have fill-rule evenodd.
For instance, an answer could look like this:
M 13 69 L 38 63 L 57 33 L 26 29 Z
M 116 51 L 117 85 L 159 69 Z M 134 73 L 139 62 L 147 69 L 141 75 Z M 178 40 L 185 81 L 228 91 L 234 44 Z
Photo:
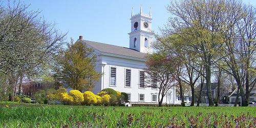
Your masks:
M 171 0 L 172 1 L 172 0 Z M 12 2 L 10 0 L 10 2 Z M 49 23 L 55 23 L 62 33 L 68 32 L 70 38 L 104 42 L 122 47 L 129 47 L 129 33 L 131 31 L 131 12 L 139 13 L 142 5 L 143 13 L 152 10 L 152 29 L 159 32 L 159 27 L 167 23 L 170 14 L 166 10 L 169 0 L 130 0 L 130 1 L 61 1 L 27 0 L 20 2 L 30 5 L 30 10 L 39 10 Z M 256 6 L 255 0 L 244 0 Z M 4 1 L 5 5 L 7 1 Z

